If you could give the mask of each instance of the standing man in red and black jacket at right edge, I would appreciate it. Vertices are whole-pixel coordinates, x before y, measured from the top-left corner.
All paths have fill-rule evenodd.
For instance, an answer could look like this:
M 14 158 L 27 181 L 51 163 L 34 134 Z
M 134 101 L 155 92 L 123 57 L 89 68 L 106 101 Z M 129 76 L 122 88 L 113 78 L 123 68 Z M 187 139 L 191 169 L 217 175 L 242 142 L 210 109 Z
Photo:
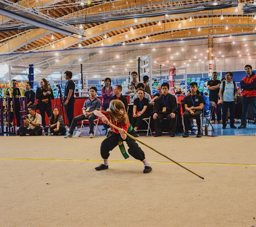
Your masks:
M 254 112 L 254 118 L 256 117 L 256 75 L 252 73 L 252 66 L 246 65 L 245 72 L 247 76 L 241 80 L 240 85 L 243 88 L 243 109 L 242 109 L 242 117 L 241 117 L 241 125 L 238 129 L 246 129 L 247 123 L 247 112 L 249 108 L 249 104 Z

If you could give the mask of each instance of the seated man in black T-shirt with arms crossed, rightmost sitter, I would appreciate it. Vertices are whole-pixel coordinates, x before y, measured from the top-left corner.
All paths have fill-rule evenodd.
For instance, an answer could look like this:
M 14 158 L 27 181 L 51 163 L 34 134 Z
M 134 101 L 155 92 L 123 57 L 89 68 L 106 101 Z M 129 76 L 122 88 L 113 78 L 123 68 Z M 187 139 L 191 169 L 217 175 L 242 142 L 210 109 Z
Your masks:
M 190 83 L 191 94 L 186 96 L 183 100 L 183 105 L 185 111 L 183 113 L 183 127 L 185 133 L 184 138 L 189 137 L 190 130 L 190 118 L 196 118 L 197 123 L 197 136 L 198 138 L 202 137 L 202 110 L 204 107 L 204 98 L 200 95 L 197 95 L 197 82 Z

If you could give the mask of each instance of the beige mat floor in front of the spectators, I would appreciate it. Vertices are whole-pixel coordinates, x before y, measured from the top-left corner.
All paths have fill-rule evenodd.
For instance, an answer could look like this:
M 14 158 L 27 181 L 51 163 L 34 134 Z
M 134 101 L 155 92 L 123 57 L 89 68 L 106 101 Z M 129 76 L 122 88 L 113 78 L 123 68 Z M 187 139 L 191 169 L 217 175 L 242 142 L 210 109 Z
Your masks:
M 0 226 L 256 226 L 255 137 L 139 137 L 153 171 L 105 137 L 0 137 Z

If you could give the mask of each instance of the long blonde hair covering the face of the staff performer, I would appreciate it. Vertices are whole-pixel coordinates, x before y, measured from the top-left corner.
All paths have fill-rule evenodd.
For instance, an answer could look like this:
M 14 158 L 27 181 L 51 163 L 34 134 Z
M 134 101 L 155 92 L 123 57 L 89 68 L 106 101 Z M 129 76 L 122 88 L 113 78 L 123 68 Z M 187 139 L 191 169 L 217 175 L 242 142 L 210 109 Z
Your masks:
M 120 111 L 123 109 L 123 113 Z M 109 103 L 109 117 L 114 120 L 114 122 L 120 122 L 127 124 L 129 122 L 129 118 L 127 116 L 126 108 L 124 104 L 120 100 L 112 100 Z

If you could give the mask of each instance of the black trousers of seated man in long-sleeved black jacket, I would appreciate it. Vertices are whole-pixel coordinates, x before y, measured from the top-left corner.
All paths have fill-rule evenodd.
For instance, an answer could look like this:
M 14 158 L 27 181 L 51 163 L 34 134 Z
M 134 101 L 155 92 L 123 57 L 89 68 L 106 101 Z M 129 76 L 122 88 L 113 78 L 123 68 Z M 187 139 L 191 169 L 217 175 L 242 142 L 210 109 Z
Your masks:
M 162 134 L 162 123 L 163 118 L 167 118 L 169 120 L 169 134 L 175 134 L 176 132 L 176 117 L 171 118 L 171 113 L 157 113 L 157 118 L 154 119 L 155 132 L 158 135 Z

